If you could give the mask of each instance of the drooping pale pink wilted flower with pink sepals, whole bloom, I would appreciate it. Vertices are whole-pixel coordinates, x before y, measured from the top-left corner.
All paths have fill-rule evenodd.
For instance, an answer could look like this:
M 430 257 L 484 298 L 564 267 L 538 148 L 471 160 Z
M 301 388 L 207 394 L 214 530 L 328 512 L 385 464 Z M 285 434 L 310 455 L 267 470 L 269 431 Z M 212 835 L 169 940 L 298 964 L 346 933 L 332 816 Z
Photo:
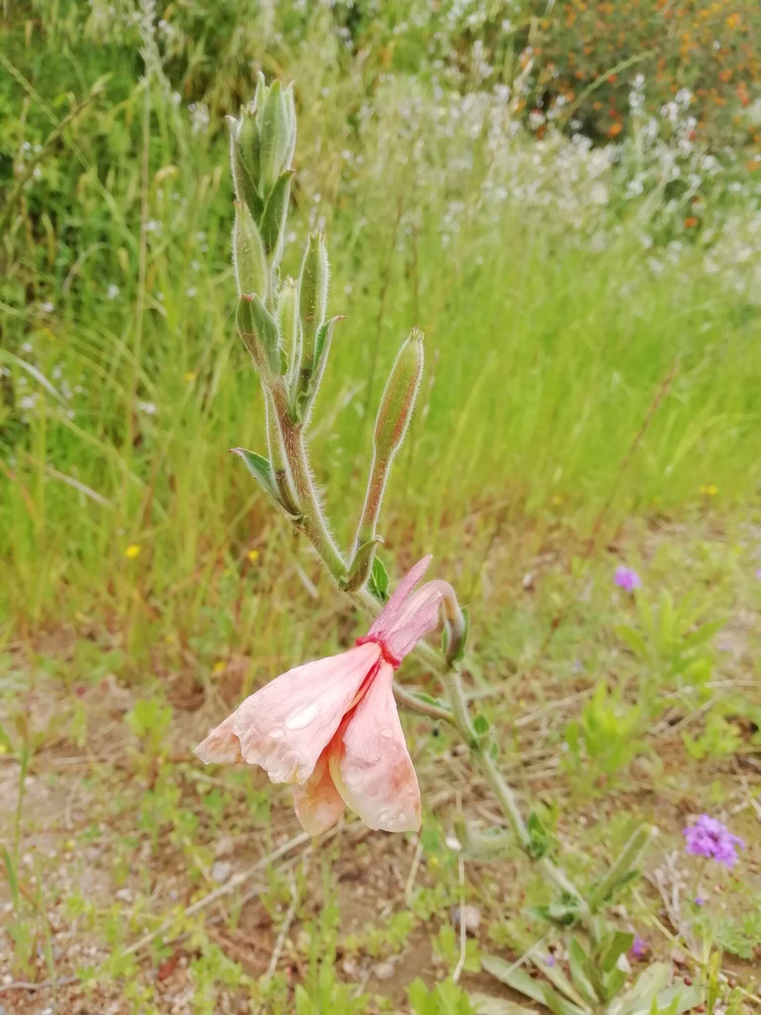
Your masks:
M 394 701 L 394 671 L 438 622 L 445 582 L 414 587 L 424 557 L 403 579 L 364 637 L 338 656 L 305 663 L 248 697 L 196 753 L 206 763 L 261 765 L 292 787 L 296 817 L 320 835 L 348 805 L 370 828 L 420 827 L 420 790 Z

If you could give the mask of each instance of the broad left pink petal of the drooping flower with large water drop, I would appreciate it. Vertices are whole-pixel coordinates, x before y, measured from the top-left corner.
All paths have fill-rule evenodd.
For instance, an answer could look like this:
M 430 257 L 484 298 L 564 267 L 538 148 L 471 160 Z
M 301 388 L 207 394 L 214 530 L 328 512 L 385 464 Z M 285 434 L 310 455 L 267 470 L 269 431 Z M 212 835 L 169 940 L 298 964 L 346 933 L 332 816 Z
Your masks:
M 356 646 L 288 670 L 248 697 L 232 721 L 244 759 L 273 783 L 305 783 L 379 655 L 373 642 Z

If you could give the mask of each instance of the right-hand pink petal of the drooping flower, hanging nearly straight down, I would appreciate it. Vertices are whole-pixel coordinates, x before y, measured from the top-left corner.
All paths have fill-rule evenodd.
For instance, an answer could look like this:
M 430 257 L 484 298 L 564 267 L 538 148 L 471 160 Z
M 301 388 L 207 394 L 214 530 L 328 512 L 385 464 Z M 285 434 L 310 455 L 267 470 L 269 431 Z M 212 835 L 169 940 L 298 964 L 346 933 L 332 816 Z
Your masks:
M 394 670 L 383 663 L 330 747 L 336 789 L 370 828 L 417 831 L 420 789 L 394 701 Z

